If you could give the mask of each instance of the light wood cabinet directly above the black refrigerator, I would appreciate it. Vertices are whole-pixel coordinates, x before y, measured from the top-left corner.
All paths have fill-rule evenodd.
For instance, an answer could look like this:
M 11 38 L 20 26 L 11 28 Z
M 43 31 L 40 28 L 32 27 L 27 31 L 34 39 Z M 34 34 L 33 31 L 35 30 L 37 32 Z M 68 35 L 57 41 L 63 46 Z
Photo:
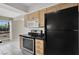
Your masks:
M 46 13 L 57 12 L 58 10 L 66 9 L 69 7 L 77 6 L 77 3 L 61 3 L 55 6 L 51 6 L 47 8 Z

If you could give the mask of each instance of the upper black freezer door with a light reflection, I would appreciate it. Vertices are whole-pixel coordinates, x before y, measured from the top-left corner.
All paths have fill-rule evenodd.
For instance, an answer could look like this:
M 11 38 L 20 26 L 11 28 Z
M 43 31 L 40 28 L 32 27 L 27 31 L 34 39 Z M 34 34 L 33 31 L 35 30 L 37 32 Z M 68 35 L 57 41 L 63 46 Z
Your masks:
M 73 31 L 78 30 L 78 7 L 60 10 L 56 13 L 46 14 L 47 30 Z

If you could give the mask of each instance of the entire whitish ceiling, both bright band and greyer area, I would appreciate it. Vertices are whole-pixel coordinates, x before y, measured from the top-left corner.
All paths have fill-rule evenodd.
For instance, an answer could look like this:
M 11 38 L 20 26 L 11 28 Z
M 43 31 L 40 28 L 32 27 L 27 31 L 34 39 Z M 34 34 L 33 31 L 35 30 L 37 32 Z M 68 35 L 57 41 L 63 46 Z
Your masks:
M 0 3 L 0 16 L 16 18 L 42 8 L 56 5 L 55 3 Z

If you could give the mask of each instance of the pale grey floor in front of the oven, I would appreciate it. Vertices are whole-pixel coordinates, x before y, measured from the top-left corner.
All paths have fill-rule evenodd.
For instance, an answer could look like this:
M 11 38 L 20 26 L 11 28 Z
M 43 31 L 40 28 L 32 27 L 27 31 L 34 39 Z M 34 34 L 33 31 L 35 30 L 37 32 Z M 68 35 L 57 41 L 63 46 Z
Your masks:
M 24 54 L 19 48 L 19 41 L 11 40 L 0 43 L 0 55 L 30 55 L 30 53 Z

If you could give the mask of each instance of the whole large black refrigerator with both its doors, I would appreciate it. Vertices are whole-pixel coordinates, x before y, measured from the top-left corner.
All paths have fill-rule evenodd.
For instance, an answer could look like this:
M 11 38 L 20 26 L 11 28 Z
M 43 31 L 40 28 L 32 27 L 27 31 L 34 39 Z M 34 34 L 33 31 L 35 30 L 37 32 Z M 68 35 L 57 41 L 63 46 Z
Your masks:
M 46 55 L 78 54 L 78 6 L 45 14 Z

